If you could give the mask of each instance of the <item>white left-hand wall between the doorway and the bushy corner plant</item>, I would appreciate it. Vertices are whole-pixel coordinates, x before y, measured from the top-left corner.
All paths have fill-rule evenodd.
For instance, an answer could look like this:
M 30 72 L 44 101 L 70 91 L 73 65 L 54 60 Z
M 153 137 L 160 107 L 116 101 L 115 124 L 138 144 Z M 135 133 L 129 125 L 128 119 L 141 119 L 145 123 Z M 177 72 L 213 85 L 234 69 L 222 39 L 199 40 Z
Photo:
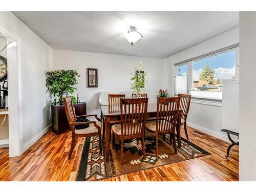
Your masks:
M 51 100 L 46 93 L 45 72 L 52 70 L 52 48 L 11 12 L 0 14 L 1 28 L 20 39 L 18 107 L 20 153 L 23 153 L 50 124 Z

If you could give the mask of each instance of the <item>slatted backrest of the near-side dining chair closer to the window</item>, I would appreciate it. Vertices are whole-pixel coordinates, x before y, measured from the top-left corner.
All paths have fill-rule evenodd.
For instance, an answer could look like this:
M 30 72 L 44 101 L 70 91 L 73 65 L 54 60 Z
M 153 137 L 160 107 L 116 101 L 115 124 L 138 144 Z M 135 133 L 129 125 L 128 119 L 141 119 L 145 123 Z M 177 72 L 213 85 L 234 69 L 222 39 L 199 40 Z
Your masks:
M 179 115 L 179 109 L 179 97 L 158 97 L 156 131 L 165 132 L 174 130 Z

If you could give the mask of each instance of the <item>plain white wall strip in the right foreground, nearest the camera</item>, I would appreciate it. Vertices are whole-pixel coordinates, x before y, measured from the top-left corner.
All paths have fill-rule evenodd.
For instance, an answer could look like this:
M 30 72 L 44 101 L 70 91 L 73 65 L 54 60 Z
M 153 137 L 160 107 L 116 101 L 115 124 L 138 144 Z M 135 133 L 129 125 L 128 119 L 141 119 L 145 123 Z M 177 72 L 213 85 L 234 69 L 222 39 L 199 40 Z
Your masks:
M 256 181 L 255 53 L 256 12 L 240 11 L 240 181 Z

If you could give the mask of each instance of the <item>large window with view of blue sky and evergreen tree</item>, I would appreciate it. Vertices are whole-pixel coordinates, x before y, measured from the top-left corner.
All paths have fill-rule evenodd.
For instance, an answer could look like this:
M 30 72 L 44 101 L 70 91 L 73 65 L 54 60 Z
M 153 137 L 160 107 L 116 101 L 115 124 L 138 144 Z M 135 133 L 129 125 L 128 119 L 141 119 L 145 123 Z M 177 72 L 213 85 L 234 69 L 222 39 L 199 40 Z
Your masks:
M 222 81 L 238 78 L 237 47 L 197 57 L 175 66 L 175 95 L 191 94 L 194 98 L 222 100 Z M 187 81 L 180 76 L 187 76 Z M 184 91 L 184 82 L 187 90 Z M 181 85 L 183 87 L 181 89 Z

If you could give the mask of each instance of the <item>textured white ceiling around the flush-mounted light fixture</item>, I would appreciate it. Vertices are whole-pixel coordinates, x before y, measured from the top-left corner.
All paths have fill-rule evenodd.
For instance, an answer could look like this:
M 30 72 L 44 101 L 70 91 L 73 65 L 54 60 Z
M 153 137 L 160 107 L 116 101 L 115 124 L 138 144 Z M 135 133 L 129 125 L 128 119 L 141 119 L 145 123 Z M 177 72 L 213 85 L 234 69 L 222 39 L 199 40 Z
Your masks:
M 239 25 L 238 11 L 12 11 L 53 49 L 166 58 Z M 135 25 L 143 38 L 124 38 Z

